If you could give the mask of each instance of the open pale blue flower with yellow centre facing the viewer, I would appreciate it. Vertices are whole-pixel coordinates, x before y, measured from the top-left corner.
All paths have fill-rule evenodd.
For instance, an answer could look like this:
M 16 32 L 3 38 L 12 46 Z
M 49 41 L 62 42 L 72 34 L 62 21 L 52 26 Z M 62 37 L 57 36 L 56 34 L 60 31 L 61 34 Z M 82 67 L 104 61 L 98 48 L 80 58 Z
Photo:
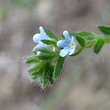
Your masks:
M 57 42 L 57 46 L 63 48 L 60 50 L 61 57 L 65 57 L 67 54 L 72 55 L 77 46 L 76 40 L 74 39 L 74 37 L 70 37 L 68 31 L 64 31 L 63 35 L 65 37 L 65 40 L 59 40 Z

